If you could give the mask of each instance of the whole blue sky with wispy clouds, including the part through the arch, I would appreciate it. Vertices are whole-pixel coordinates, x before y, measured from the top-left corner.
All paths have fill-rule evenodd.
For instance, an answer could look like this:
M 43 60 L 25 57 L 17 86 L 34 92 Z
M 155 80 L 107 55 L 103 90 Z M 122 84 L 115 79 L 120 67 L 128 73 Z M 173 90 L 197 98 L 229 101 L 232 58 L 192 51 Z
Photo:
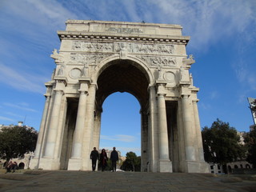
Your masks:
M 38 130 L 45 82 L 55 68 L 57 30 L 67 19 L 182 25 L 198 93 L 201 126 L 217 118 L 239 131 L 253 119 L 256 98 L 256 1 L 254 0 L 2 0 L 0 2 L 0 124 Z M 125 102 L 124 102 L 125 101 Z M 103 104 L 101 146 L 140 154 L 139 104 L 116 93 Z

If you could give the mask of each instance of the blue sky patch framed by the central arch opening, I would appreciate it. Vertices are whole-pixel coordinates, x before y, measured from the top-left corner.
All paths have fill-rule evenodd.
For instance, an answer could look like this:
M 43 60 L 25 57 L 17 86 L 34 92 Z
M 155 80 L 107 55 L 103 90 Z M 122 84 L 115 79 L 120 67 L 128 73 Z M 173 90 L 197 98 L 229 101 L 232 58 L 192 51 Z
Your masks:
M 122 157 L 127 152 L 141 155 L 140 106 L 128 93 L 110 94 L 102 106 L 99 149 L 112 150 L 115 146 Z

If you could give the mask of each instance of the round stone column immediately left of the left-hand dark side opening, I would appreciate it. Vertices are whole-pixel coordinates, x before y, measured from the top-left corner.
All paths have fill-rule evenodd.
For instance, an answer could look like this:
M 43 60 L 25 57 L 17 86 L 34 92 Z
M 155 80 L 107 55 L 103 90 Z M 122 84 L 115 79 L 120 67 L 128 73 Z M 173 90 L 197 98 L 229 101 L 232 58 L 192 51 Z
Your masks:
M 54 90 L 54 105 L 52 108 L 52 113 L 50 116 L 50 125 L 48 127 L 48 134 L 46 140 L 46 150 L 44 157 L 52 158 L 54 157 L 54 148 L 55 148 L 55 141 L 58 132 L 58 121 L 59 121 L 59 112 L 62 105 L 62 95 L 63 90 Z

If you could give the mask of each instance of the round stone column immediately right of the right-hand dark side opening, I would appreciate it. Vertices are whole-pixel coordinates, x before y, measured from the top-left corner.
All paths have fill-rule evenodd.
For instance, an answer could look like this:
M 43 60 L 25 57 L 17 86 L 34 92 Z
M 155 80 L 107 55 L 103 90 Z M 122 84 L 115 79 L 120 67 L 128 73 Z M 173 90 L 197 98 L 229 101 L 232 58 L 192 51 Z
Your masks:
M 192 121 L 190 114 L 190 98 L 189 95 L 182 95 L 182 117 L 185 135 L 186 161 L 195 161 L 194 149 L 194 131 L 192 129 Z

